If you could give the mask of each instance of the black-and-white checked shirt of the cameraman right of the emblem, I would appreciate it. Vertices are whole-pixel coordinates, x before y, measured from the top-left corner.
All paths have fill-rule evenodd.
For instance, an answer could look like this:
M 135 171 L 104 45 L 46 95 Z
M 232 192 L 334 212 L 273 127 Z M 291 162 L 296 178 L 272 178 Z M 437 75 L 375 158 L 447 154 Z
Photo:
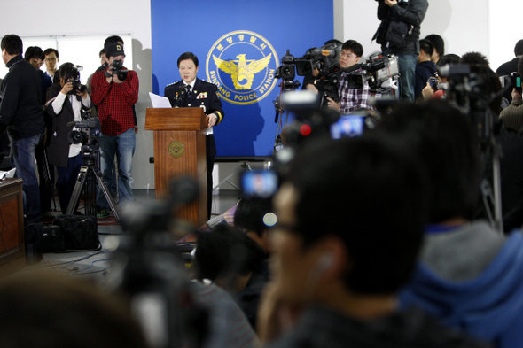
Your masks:
M 360 108 L 372 109 L 368 102 L 369 97 L 374 97 L 375 94 L 371 93 L 369 83 L 365 82 L 363 89 L 349 89 L 348 81 L 345 78 L 347 75 L 358 75 L 362 73 L 362 69 L 350 73 L 341 73 L 338 96 L 340 96 L 340 113 L 342 115 Z

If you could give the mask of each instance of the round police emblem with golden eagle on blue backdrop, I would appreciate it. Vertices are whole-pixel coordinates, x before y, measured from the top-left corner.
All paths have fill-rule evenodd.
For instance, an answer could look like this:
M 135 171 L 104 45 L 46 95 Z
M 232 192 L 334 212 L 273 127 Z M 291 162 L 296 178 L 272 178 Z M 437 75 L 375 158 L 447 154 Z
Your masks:
M 276 51 L 262 35 L 239 30 L 219 38 L 207 55 L 207 80 L 232 104 L 253 104 L 277 84 Z

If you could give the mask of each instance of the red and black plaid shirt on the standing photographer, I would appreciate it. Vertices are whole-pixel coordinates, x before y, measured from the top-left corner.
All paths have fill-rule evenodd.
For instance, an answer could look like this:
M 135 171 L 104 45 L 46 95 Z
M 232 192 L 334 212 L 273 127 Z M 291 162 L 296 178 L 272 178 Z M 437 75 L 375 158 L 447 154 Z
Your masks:
M 93 104 L 98 106 L 102 133 L 119 135 L 135 126 L 132 106 L 138 101 L 138 75 L 129 70 L 127 79 L 118 84 L 107 83 L 104 72 L 94 73 L 90 97 Z

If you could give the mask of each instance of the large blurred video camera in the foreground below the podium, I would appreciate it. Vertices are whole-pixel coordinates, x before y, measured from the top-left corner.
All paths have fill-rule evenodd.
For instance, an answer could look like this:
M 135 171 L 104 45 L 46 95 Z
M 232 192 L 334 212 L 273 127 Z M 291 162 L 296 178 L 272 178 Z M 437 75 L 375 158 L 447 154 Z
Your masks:
M 195 302 L 183 248 L 176 244 L 194 227 L 176 214 L 199 196 L 199 187 L 189 177 L 169 186 L 166 199 L 129 206 L 107 285 L 127 295 L 150 346 L 196 348 L 207 339 L 208 313 Z

